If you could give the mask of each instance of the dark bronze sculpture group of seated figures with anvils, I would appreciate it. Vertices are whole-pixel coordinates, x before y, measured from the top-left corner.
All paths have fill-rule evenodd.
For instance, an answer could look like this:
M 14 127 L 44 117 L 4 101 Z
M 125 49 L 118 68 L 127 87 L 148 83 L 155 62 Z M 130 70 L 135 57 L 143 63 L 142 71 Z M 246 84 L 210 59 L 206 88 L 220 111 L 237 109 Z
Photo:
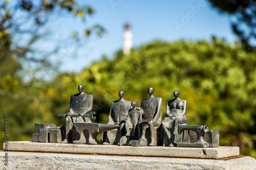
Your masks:
M 162 98 L 156 98 L 154 88 L 147 89 L 150 97 L 136 102 L 123 99 L 124 92 L 119 91 L 120 99 L 111 103 L 108 124 L 91 123 L 96 114 L 92 111 L 93 96 L 83 92 L 71 95 L 70 109 L 63 127 L 55 124 L 35 124 L 32 142 L 76 143 L 76 144 L 118 144 L 137 147 L 168 145 L 169 147 L 218 147 L 219 131 L 208 130 L 207 126 L 186 125 L 186 101 L 179 99 L 179 92 L 174 92 L 175 99 L 166 104 L 166 115 L 162 121 Z M 162 131 L 160 131 L 162 129 Z M 157 136 L 158 134 L 160 134 Z M 101 141 L 97 134 L 102 133 Z M 161 136 L 164 135 L 164 138 Z M 168 144 L 165 144 L 167 138 Z

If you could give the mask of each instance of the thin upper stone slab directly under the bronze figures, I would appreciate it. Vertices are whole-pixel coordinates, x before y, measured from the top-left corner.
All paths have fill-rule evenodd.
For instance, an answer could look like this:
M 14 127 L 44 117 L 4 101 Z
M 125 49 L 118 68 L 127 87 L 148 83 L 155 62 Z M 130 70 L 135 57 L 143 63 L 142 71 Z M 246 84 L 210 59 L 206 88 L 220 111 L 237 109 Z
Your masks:
M 119 145 L 89 145 L 72 143 L 39 143 L 31 141 L 8 142 L 9 151 L 56 152 L 77 154 L 160 156 L 182 158 L 220 159 L 239 155 L 239 147 L 179 148 L 131 147 Z

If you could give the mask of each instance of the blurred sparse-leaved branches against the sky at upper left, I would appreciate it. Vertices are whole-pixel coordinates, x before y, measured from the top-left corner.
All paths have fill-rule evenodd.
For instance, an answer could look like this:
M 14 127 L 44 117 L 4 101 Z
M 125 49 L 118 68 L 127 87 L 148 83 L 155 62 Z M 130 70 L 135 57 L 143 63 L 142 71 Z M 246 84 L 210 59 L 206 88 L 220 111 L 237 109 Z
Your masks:
M 82 20 L 86 16 L 94 14 L 94 9 L 89 5 L 78 4 L 74 0 L 22 0 L 22 1 L 1 1 L 0 3 L 0 67 L 3 67 L 9 60 L 16 58 L 12 64 L 14 68 L 10 71 L 16 71 L 15 68 L 21 68 L 24 61 L 31 61 L 41 64 L 50 65 L 48 58 L 58 52 L 58 47 L 51 50 L 40 48 L 44 43 L 44 35 L 47 23 L 51 20 L 56 21 L 58 18 L 67 15 L 79 17 Z M 51 30 L 47 30 L 50 31 Z M 88 37 L 92 32 L 101 36 L 104 29 L 99 26 L 84 28 L 84 36 Z M 72 34 L 78 39 L 77 33 Z M 40 41 L 42 40 L 42 41 Z M 34 45 L 40 41 L 40 45 Z M 39 55 L 38 55 L 39 54 Z M 23 62 L 23 64 L 17 64 Z M 15 64 L 16 63 L 16 64 Z M 8 69 L 5 67 L 5 69 Z M 5 74 L 6 72 L 2 72 Z

